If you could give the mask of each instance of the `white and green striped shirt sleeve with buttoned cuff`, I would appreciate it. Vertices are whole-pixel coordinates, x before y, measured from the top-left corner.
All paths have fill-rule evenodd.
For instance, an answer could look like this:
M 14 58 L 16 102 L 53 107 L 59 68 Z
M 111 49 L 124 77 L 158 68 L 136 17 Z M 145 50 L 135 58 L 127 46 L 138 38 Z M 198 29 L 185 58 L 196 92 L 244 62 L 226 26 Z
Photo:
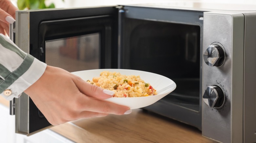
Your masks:
M 46 66 L 0 34 L 0 95 L 5 99 L 18 98 L 43 75 Z

